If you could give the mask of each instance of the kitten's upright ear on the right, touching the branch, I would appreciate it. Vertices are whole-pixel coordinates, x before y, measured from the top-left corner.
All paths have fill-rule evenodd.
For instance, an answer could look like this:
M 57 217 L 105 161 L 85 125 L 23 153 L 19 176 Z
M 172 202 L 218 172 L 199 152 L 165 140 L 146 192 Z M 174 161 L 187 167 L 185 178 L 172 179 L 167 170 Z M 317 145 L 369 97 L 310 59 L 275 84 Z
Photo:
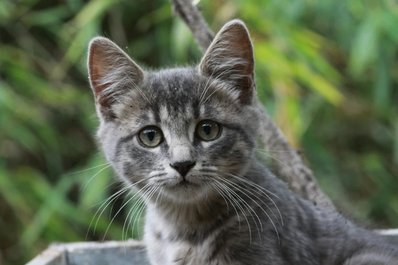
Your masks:
M 249 31 L 240 20 L 225 24 L 210 44 L 200 65 L 203 75 L 231 82 L 249 103 L 254 94 L 254 55 Z

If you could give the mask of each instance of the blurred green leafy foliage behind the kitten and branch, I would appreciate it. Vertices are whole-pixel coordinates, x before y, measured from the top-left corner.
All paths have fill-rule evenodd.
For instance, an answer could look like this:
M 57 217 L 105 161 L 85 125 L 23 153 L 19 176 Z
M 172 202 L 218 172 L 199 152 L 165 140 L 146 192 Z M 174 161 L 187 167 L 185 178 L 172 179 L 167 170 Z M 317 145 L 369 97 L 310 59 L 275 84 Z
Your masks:
M 198 6 L 214 31 L 231 18 L 248 24 L 258 94 L 335 204 L 355 219 L 398 227 L 396 1 Z M 2 264 L 22 264 L 54 241 L 84 241 L 99 203 L 120 187 L 94 140 L 86 50 L 98 35 L 149 68 L 201 56 L 167 0 L 0 1 Z M 87 240 L 103 239 L 122 201 L 105 209 Z M 121 239 L 126 215 L 106 240 Z

